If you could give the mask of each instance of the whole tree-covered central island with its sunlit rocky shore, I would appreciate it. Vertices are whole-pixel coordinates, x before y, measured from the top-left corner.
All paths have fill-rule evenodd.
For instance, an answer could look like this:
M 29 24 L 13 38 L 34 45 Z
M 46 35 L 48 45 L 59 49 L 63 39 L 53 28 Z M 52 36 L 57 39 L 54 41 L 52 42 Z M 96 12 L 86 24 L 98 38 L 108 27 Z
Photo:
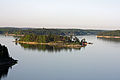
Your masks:
M 81 41 L 76 36 L 62 36 L 62 35 L 36 35 L 36 34 L 26 34 L 15 42 L 23 44 L 41 44 L 50 46 L 61 46 L 61 47 L 71 47 L 80 48 L 87 45 L 85 39 Z

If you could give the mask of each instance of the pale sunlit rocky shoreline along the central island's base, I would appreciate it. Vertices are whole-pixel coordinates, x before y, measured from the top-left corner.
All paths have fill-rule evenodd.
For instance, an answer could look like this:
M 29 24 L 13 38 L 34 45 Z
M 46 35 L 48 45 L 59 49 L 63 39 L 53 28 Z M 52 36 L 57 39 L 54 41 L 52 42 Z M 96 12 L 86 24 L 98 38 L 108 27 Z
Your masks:
M 64 43 L 38 43 L 38 42 L 25 42 L 25 41 L 14 41 L 14 42 L 17 42 L 17 43 L 23 43 L 23 44 L 33 44 L 33 45 L 37 45 L 37 44 L 40 44 L 40 45 L 49 45 L 49 46 L 60 46 L 60 47 L 68 47 L 68 48 L 81 48 L 81 47 L 84 47 L 84 46 L 81 46 L 79 44 L 64 44 Z

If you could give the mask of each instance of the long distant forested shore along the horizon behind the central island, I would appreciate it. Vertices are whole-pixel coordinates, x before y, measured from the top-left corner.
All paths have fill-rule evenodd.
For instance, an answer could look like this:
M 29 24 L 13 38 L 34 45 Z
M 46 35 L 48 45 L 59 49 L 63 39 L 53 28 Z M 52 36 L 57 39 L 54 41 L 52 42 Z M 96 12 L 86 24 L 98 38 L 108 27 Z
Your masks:
M 105 30 L 84 30 L 84 29 L 47 29 L 47 28 L 0 28 L 0 34 L 36 34 L 36 35 L 96 35 Z

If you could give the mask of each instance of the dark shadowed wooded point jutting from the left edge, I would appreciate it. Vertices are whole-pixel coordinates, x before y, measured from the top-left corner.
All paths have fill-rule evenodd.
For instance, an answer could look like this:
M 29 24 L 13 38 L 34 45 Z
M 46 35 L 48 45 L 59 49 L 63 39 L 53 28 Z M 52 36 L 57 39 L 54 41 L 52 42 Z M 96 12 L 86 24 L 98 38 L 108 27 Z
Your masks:
M 0 66 L 11 66 L 15 63 L 17 63 L 17 60 L 9 56 L 7 47 L 0 44 Z

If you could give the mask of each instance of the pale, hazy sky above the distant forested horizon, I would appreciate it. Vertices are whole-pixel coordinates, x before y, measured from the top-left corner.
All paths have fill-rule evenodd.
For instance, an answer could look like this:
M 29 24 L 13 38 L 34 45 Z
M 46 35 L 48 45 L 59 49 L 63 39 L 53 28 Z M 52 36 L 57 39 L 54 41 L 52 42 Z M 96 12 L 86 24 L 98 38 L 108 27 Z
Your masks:
M 120 29 L 120 0 L 0 0 L 0 27 Z

